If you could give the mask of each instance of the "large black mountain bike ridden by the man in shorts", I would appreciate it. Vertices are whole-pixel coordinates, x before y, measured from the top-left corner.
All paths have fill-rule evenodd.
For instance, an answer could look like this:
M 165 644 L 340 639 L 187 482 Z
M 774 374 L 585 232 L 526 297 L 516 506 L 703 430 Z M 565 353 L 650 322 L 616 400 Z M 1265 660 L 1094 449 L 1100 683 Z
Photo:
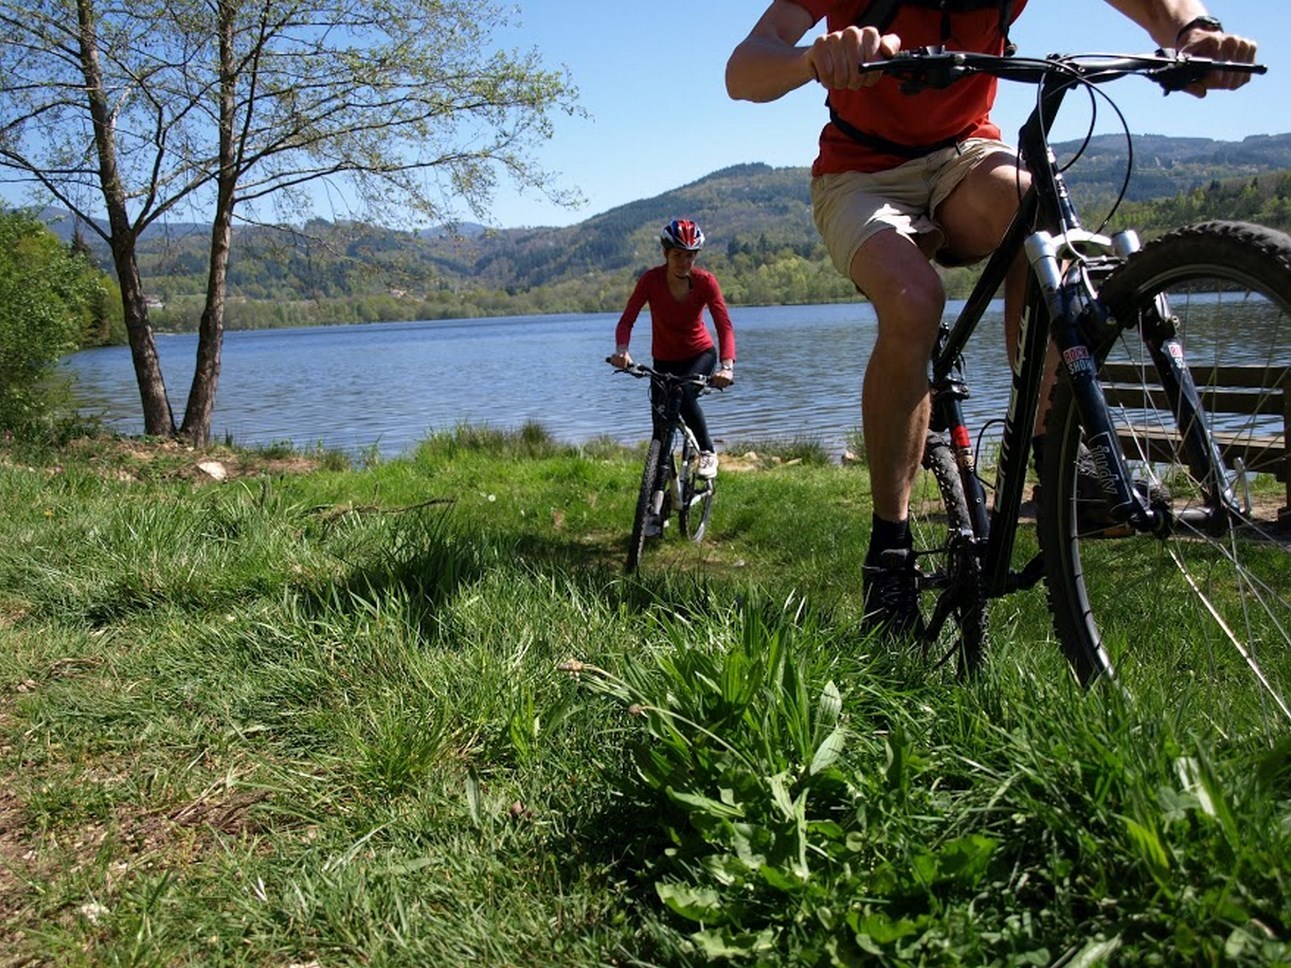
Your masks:
M 1291 724 L 1291 509 L 1278 507 L 1283 492 L 1269 474 L 1287 474 L 1291 414 L 1281 410 L 1291 404 L 1274 387 L 1287 385 L 1291 364 L 1291 239 L 1219 221 L 1146 244 L 1127 228 L 1103 235 L 1106 222 L 1088 231 L 1048 143 L 1073 89 L 1097 103 L 1106 99 L 1097 85 L 1124 76 L 1168 93 L 1207 71 L 1264 68 L 1174 52 L 1029 59 L 926 48 L 862 70 L 913 88 L 975 74 L 1037 88 L 1019 142 L 1030 187 L 962 311 L 942 320 L 930 361 L 932 422 L 910 512 L 922 645 L 961 672 L 975 670 L 990 605 L 1043 580 L 1053 631 L 1082 685 L 1154 670 L 1202 715 L 1223 707 L 1225 719 Z M 1019 253 L 1030 266 L 1028 292 L 988 479 L 977 466 L 986 431 L 975 445 L 964 425 L 963 350 Z M 1059 373 L 1032 552 L 1017 542 L 1019 520 L 1051 341 Z M 1263 368 L 1248 418 L 1219 416 L 1234 363 Z M 1112 396 L 1104 374 L 1117 364 L 1133 387 Z M 1235 710 L 1239 676 L 1259 688 Z

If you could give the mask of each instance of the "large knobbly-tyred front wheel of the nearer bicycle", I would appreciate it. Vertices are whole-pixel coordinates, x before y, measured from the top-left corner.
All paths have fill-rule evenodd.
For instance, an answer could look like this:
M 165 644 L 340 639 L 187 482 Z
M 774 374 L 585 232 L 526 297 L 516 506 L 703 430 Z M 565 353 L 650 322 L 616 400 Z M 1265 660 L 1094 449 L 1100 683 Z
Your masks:
M 1291 239 L 1237 222 L 1189 226 L 1132 254 L 1100 299 L 1114 314 L 1096 350 L 1113 429 L 1135 488 L 1174 524 L 1149 536 L 1109 523 L 1104 498 L 1081 480 L 1082 461 L 1090 471 L 1081 418 L 1060 379 L 1038 527 L 1068 660 L 1084 684 L 1115 674 L 1135 693 L 1155 687 L 1164 707 L 1221 720 L 1225 734 L 1285 731 Z M 1163 391 L 1168 381 L 1148 352 L 1163 334 L 1183 347 L 1199 419 Z M 1195 423 L 1223 459 L 1198 457 L 1207 435 Z

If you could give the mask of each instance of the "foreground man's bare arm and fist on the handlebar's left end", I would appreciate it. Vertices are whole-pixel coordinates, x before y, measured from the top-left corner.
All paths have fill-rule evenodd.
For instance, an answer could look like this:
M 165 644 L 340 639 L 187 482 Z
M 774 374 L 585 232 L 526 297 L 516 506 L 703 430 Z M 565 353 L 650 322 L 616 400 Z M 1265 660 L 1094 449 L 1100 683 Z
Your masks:
M 880 36 L 874 27 L 848 27 L 797 46 L 813 23 L 793 0 L 772 0 L 727 61 L 727 93 L 737 101 L 775 101 L 813 80 L 829 90 L 869 86 L 878 75 L 857 68 L 901 49 L 895 34 Z

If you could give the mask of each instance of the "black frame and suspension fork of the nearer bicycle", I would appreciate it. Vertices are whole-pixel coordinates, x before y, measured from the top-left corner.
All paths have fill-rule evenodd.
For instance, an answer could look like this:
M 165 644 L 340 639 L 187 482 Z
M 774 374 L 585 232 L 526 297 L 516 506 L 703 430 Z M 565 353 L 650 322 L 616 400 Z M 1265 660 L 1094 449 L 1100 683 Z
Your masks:
M 1039 105 L 1019 138 L 1032 176 L 1030 187 L 955 321 L 949 327 L 942 324 L 931 360 L 931 429 L 949 431 L 975 532 L 959 539 L 977 543 L 984 591 L 989 598 L 1030 587 L 1043 573 L 1038 555 L 1020 570 L 1012 568 L 1012 555 L 1051 338 L 1057 347 L 1059 365 L 1074 386 L 1087 445 L 1104 475 L 1112 514 L 1139 530 L 1164 532 L 1172 524 L 1135 490 L 1097 381 L 1097 333 L 1105 323 L 1105 307 L 1090 288 L 1086 257 L 1092 250 L 1106 259 L 1122 259 L 1139 248 L 1139 240 L 1128 231 L 1112 237 L 1084 231 L 1048 148 L 1048 130 L 1065 94 L 1087 80 L 1050 76 L 1042 83 Z M 962 358 L 968 338 L 1021 253 L 1028 258 L 1030 279 L 1017 334 L 995 501 L 988 512 L 985 488 L 976 474 L 972 440 L 963 417 L 962 401 L 968 388 L 962 376 Z M 1143 333 L 1144 341 L 1163 372 L 1171 374 L 1167 394 L 1176 413 L 1183 414 L 1186 426 L 1195 429 L 1189 441 L 1194 467 L 1208 470 L 1205 474 L 1208 480 L 1221 480 L 1216 469 L 1223 469 L 1223 458 L 1205 430 L 1199 395 L 1184 363 L 1183 348 L 1168 325 L 1168 306 L 1163 305 L 1163 298 L 1161 302 L 1157 307 L 1159 325 L 1154 327 L 1155 332 Z M 1226 507 L 1237 507 L 1235 502 L 1235 496 L 1224 488 L 1217 496 L 1219 509 L 1212 505 L 1210 510 L 1190 514 L 1205 519 L 1216 510 L 1224 512 Z

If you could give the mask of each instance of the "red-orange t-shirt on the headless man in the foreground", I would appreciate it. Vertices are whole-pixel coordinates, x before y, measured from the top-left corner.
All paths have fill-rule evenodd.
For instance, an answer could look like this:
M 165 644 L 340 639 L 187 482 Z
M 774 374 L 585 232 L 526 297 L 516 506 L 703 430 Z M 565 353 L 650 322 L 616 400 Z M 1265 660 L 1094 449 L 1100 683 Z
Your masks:
M 817 21 L 825 18 L 830 31 L 849 27 L 865 12 L 870 0 L 794 0 Z M 1026 6 L 1015 0 L 1013 18 Z M 901 37 L 901 48 L 911 49 L 945 44 L 951 50 L 973 50 L 998 54 L 1004 49 L 999 30 L 999 8 L 950 14 L 950 36 L 942 36 L 940 10 L 899 4 L 887 34 Z M 944 138 L 998 138 L 999 128 L 990 120 L 995 102 L 995 79 L 985 75 L 967 77 L 941 90 L 901 92 L 901 83 L 880 77 L 873 88 L 831 90 L 830 103 L 838 115 L 868 134 L 877 134 L 897 145 L 931 145 Z M 883 154 L 843 134 L 833 124 L 820 133 L 820 155 L 812 174 L 834 172 L 882 172 L 909 157 Z

